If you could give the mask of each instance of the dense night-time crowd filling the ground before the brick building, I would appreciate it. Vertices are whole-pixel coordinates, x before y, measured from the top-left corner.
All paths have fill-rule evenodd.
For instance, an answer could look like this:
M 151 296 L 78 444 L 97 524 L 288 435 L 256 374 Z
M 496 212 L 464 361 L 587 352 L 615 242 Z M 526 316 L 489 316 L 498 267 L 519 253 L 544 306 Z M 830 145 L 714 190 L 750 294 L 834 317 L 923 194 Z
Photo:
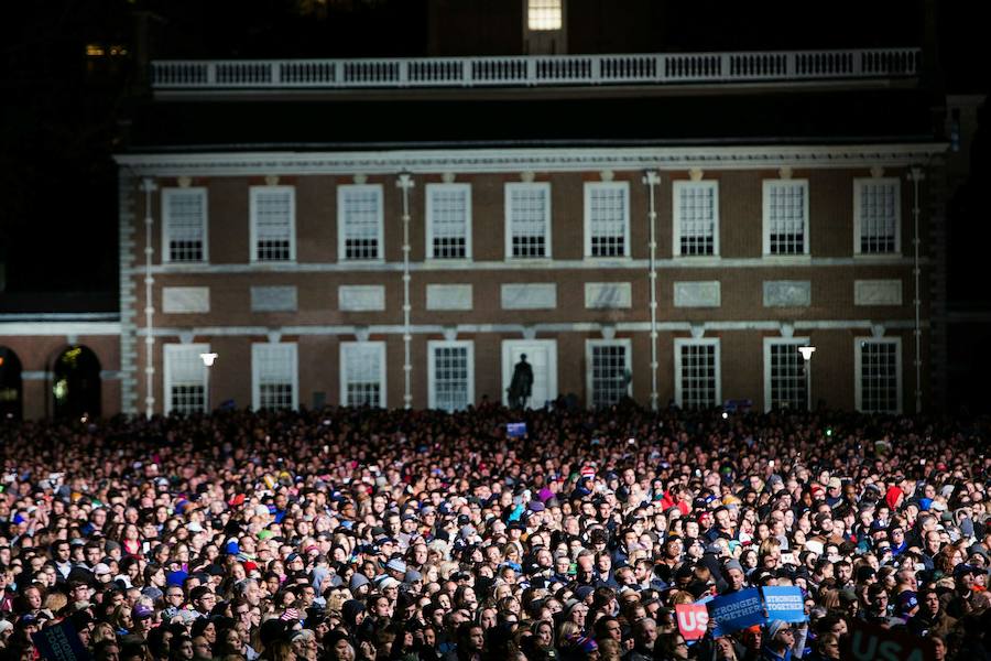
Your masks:
M 522 435 L 508 423 L 525 422 Z M 980 422 L 334 409 L 4 423 L 0 649 L 97 661 L 989 657 Z M 675 606 L 802 590 L 687 641 Z

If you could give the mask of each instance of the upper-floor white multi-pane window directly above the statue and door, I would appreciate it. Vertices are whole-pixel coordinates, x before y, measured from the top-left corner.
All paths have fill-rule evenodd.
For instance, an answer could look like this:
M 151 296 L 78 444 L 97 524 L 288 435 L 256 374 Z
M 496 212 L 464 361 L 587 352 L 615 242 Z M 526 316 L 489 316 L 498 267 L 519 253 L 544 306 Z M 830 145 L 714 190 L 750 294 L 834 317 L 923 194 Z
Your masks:
M 551 257 L 551 184 L 505 185 L 507 257 Z

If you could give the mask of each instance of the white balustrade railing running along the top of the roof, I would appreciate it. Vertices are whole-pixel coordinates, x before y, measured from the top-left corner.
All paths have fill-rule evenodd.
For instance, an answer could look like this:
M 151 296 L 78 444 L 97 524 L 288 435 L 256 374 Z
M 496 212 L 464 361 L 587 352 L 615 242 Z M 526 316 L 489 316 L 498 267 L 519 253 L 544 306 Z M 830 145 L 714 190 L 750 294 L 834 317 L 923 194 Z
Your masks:
M 750 83 L 914 76 L 919 48 L 411 59 L 154 61 L 165 89 L 361 89 Z

